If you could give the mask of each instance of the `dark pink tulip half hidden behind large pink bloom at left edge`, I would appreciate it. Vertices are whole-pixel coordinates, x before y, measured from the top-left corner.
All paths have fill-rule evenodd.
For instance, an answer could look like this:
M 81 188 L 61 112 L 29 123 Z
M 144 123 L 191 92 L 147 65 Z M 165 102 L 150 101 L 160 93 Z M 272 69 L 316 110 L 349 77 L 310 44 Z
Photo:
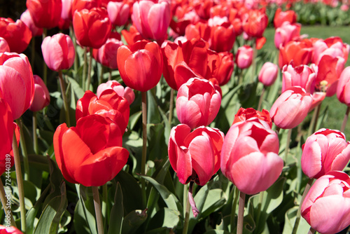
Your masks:
M 34 99 L 29 106 L 29 110 L 40 111 L 45 106 L 48 106 L 48 104 L 50 104 L 50 93 L 48 92 L 48 88 L 46 87 L 45 83 L 39 76 L 34 75 L 33 77 L 35 91 Z

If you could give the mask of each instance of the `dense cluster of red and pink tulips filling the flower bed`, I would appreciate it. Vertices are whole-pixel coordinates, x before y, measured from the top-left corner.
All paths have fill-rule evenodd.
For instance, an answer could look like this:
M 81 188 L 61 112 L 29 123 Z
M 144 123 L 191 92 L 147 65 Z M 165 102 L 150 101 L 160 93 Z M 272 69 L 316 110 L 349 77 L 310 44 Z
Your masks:
M 246 82 L 242 81 L 242 74 L 247 69 L 255 76 L 256 56 L 265 44 L 263 34 L 269 22 L 265 8 L 262 8 L 265 5 L 267 3 L 262 1 L 27 0 L 27 11 L 22 13 L 20 20 L 0 18 L 0 111 L 3 116 L 0 121 L 0 173 L 8 178 L 7 162 L 11 167 L 15 165 L 19 229 L 26 233 L 30 226 L 26 223 L 27 205 L 18 151 L 21 144 L 26 180 L 30 165 L 24 141 L 29 133 L 24 132 L 21 116 L 27 109 L 32 111 L 34 152 L 43 154 L 38 147 L 36 113 L 50 104 L 46 67 L 45 77 L 41 79 L 33 74 L 34 55 L 29 62 L 22 53 L 34 40 L 32 37 L 43 35 L 43 61 L 50 70 L 58 72 L 65 122 L 55 126 L 51 139 L 55 152 L 52 162 L 69 184 L 92 187 L 98 233 L 106 229 L 103 221 L 106 214 L 103 218 L 98 187 L 107 189 L 109 181 L 120 171 L 132 167 L 135 163 L 132 160 L 141 162 L 137 163 L 141 164 L 137 180 L 144 206 L 151 196 L 147 184 L 154 185 L 151 179 L 156 178 L 147 177 L 152 174 L 146 168 L 150 144 L 147 112 L 151 110 L 147 108 L 148 94 L 162 92 L 164 90 L 159 89 L 165 86 L 165 90 L 170 90 L 167 96 L 170 97 L 167 100 L 169 111 L 163 113 L 167 114 L 163 124 L 169 127 L 169 138 L 165 139 L 167 160 L 179 182 L 185 185 L 183 191 L 188 190 L 183 233 L 188 231 L 190 207 L 194 218 L 202 212 L 193 197 L 195 184 L 205 186 L 217 173 L 232 182 L 232 194 L 234 187 L 240 191 L 237 222 L 238 196 L 231 201 L 230 231 L 235 230 L 232 224 L 237 223 L 237 233 L 242 233 L 246 194 L 262 194 L 281 174 L 285 175 L 283 167 L 290 166 L 287 164 L 288 147 L 284 149 L 284 158 L 279 156 L 279 131 L 288 130 L 289 146 L 291 130 L 301 129 L 311 111 L 314 111 L 316 126 L 325 97 L 337 94 L 340 102 L 350 106 L 350 67 L 345 68 L 350 46 L 339 37 L 307 39 L 307 35 L 300 35 L 297 14 L 279 8 L 273 20 L 274 44 L 279 50 L 278 65 L 264 61 L 258 72 L 258 81 L 264 88 L 257 108 L 254 106 L 256 110 L 245 106 L 246 109 L 240 108 L 236 114 L 230 113 L 235 117 L 227 132 L 214 128 L 214 120 L 215 123 L 221 121 L 218 113 L 223 107 L 224 95 Z M 47 29 L 56 27 L 62 32 L 70 32 L 71 36 L 62 32 L 48 36 Z M 84 61 L 80 61 L 82 76 L 76 71 L 73 78 L 84 93 L 73 103 L 74 120 L 66 97 L 66 88 L 71 81 L 65 76 L 73 65 L 74 69 L 79 66 L 78 50 L 84 54 Z M 92 78 L 92 57 L 95 64 L 109 69 L 106 83 Z M 111 80 L 112 70 L 118 70 L 120 82 Z M 274 85 L 280 70 L 281 95 L 269 106 L 269 111 L 261 109 L 265 90 Z M 235 76 L 234 71 L 240 75 Z M 160 85 L 162 77 L 167 83 L 165 86 L 164 82 Z M 141 95 L 141 106 L 135 104 L 137 95 Z M 140 135 L 142 132 L 142 153 L 137 159 L 135 152 L 125 144 L 126 132 L 131 130 L 130 114 L 135 106 L 142 113 L 142 130 L 138 132 Z M 349 110 L 350 107 L 346 113 Z M 297 231 L 300 215 L 309 223 L 311 231 L 319 233 L 337 233 L 350 225 L 350 177 L 342 172 L 350 160 L 350 142 L 346 142 L 342 133 L 346 119 L 347 116 L 341 131 L 312 130 L 314 133 L 310 132 L 302 145 L 298 163 L 309 182 L 304 188 L 293 233 Z M 133 155 L 132 160 L 130 155 Z M 161 187 L 161 180 L 158 181 L 157 189 L 164 191 L 165 186 Z M 0 186 L 1 194 L 4 194 L 3 185 Z M 57 186 L 66 189 L 64 182 Z M 11 215 L 10 224 L 16 226 L 3 196 L 1 202 L 5 214 Z M 113 204 L 117 203 L 114 201 Z M 148 216 L 151 215 L 150 212 Z M 32 221 L 34 223 L 34 218 Z M 111 223 L 113 221 L 110 226 Z M 22 233 L 15 227 L 1 228 L 6 233 Z M 123 232 L 121 226 L 119 228 Z M 32 229 L 29 228 L 31 232 Z

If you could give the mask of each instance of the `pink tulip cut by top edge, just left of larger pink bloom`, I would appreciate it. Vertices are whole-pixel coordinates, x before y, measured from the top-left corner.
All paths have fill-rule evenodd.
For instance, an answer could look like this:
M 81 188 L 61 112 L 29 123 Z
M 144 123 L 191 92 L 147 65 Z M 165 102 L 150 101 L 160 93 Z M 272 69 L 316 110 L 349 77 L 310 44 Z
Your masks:
M 129 20 L 130 6 L 128 4 L 110 1 L 107 5 L 107 11 L 113 25 L 123 26 Z

